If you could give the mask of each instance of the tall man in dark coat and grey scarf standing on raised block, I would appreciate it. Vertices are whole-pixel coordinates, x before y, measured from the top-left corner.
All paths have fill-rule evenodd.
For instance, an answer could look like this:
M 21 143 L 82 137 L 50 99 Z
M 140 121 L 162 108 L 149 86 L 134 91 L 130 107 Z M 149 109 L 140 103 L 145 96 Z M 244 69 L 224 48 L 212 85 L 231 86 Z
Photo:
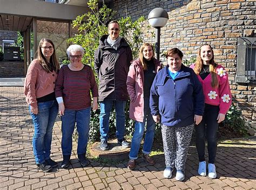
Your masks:
M 113 20 L 109 23 L 109 35 L 99 40 L 95 52 L 95 71 L 99 77 L 100 102 L 100 149 L 108 150 L 109 117 L 114 104 L 116 110 L 116 137 L 118 144 L 130 147 L 124 138 L 126 101 L 129 99 L 126 79 L 132 60 L 132 51 L 126 40 L 119 37 L 119 24 Z

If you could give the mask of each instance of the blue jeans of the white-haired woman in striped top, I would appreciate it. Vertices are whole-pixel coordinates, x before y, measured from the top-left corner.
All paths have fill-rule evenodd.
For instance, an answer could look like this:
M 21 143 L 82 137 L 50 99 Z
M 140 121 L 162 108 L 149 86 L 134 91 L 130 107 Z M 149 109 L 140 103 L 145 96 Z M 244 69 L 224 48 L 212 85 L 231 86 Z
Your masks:
M 90 130 L 91 107 L 82 110 L 65 109 L 62 116 L 62 154 L 71 155 L 72 134 L 77 123 L 77 154 L 85 154 Z

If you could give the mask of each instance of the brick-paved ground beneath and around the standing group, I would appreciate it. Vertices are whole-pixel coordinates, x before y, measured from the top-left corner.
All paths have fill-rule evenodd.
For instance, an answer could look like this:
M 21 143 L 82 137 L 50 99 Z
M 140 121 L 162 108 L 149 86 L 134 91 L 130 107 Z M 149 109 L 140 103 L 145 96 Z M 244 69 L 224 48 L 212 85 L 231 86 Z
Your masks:
M 164 156 L 154 156 L 157 164 L 147 166 L 138 160 L 136 170 L 125 164 L 104 166 L 91 161 L 80 166 L 75 152 L 68 170 L 38 171 L 32 152 L 33 125 L 22 87 L 0 87 L 0 189 L 255 189 L 255 137 L 226 140 L 218 144 L 217 179 L 197 174 L 194 146 L 186 164 L 183 182 L 163 177 Z M 52 159 L 62 160 L 60 121 L 57 119 L 52 140 Z M 73 150 L 76 150 L 76 142 Z M 75 156 L 74 156 L 75 155 Z

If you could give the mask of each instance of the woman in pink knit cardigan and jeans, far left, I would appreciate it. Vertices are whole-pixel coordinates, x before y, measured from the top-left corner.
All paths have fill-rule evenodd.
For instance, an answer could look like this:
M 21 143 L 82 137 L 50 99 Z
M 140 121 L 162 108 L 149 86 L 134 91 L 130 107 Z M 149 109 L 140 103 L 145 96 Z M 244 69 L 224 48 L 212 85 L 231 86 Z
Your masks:
M 50 158 L 52 128 L 58 114 L 55 97 L 58 71 L 55 46 L 51 40 L 43 38 L 37 48 L 37 58 L 29 65 L 24 81 L 24 94 L 35 129 L 33 153 L 37 167 L 43 172 L 49 172 L 58 165 Z

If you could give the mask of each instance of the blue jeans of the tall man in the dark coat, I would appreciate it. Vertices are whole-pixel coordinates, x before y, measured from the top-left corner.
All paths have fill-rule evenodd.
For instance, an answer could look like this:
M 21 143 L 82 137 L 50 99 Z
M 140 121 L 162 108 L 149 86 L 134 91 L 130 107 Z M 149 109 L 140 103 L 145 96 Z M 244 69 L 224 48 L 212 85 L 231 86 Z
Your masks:
M 100 116 L 99 116 L 99 131 L 100 139 L 107 140 L 109 138 L 109 116 L 114 103 L 116 110 L 116 137 L 117 139 L 124 138 L 125 133 L 125 114 L 124 109 L 126 101 L 104 100 L 100 102 Z

